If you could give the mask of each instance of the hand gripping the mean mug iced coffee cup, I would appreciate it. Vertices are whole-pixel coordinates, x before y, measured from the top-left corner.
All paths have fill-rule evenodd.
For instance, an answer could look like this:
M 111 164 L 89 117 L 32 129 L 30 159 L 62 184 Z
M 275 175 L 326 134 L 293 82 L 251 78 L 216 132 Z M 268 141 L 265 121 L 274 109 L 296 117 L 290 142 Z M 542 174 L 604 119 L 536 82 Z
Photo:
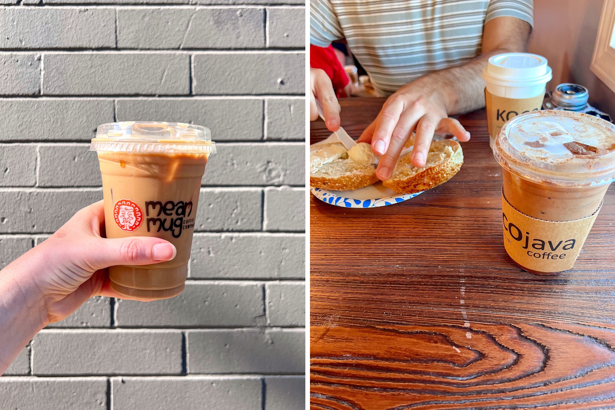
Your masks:
M 42 327 L 63 320 L 92 296 L 125 296 L 109 287 L 108 268 L 173 259 L 175 246 L 148 236 L 106 239 L 103 201 L 87 206 L 54 235 L 1 271 L 0 289 L 17 289 L 38 309 Z M 14 286 L 7 286 L 12 283 Z M 6 290 L 9 289 L 9 290 Z

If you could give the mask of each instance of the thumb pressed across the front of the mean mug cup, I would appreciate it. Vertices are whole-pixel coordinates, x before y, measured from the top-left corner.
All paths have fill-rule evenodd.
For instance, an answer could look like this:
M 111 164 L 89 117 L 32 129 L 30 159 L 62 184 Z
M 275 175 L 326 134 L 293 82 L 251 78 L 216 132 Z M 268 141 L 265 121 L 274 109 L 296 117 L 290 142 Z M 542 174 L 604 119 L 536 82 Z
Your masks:
M 169 241 L 149 236 L 98 239 L 89 252 L 89 265 L 93 270 L 115 265 L 149 265 L 171 260 L 177 249 Z

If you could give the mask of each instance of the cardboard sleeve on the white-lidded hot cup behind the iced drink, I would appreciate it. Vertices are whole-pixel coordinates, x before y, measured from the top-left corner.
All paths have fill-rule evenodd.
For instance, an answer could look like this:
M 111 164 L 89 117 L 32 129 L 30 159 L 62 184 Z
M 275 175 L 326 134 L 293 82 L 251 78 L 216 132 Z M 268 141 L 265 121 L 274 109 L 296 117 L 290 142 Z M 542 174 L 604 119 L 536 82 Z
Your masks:
M 540 110 L 542 100 L 544 100 L 544 92 L 531 98 L 507 98 L 491 95 L 485 89 L 487 129 L 491 138 L 495 138 L 498 135 L 498 131 L 509 119 L 522 113 Z

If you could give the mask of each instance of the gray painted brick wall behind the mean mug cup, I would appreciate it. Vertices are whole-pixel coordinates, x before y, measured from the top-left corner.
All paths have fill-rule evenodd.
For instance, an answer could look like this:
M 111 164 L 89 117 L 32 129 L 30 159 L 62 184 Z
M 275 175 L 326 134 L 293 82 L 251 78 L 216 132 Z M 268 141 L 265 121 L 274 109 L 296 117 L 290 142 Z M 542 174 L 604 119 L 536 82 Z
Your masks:
M 304 0 L 0 4 L 0 269 L 102 198 L 99 124 L 219 143 L 185 292 L 50 324 L 0 377 L 0 410 L 303 409 Z

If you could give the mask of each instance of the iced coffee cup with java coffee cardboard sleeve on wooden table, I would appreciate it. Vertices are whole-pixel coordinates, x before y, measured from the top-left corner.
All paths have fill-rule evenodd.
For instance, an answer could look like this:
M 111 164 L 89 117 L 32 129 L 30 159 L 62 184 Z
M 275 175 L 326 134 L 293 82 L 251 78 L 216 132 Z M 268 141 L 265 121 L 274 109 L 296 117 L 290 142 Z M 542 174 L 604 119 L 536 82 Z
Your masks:
M 615 179 L 615 126 L 573 111 L 533 111 L 499 131 L 504 247 L 539 275 L 573 267 Z

